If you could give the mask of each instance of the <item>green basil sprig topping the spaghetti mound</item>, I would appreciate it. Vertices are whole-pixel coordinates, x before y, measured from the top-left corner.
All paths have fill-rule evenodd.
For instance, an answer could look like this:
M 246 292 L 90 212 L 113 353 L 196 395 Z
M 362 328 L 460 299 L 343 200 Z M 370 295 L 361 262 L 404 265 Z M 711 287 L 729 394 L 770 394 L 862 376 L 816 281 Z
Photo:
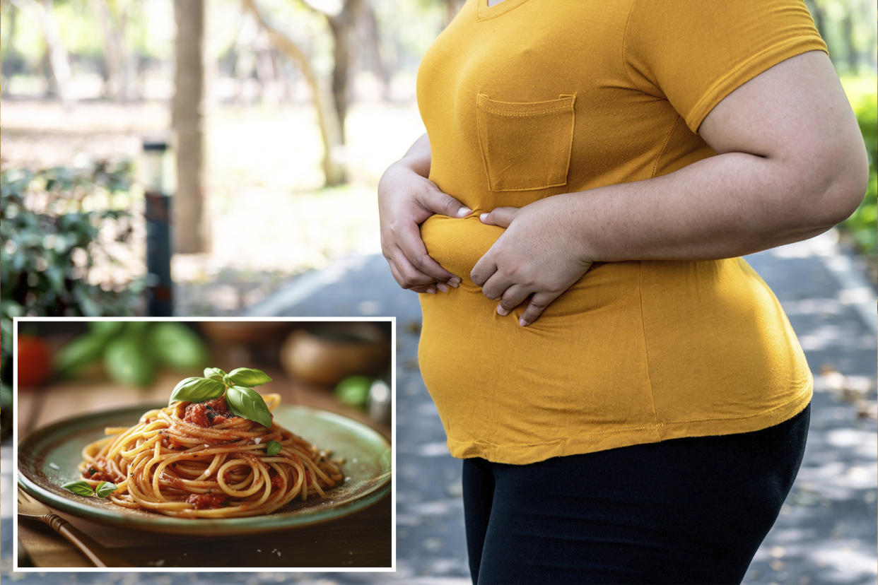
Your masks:
M 271 412 L 253 387 L 271 382 L 270 375 L 251 367 L 238 367 L 226 374 L 219 367 L 205 367 L 203 378 L 191 377 L 177 383 L 170 395 L 175 401 L 203 403 L 226 395 L 228 410 L 241 418 L 271 428 Z

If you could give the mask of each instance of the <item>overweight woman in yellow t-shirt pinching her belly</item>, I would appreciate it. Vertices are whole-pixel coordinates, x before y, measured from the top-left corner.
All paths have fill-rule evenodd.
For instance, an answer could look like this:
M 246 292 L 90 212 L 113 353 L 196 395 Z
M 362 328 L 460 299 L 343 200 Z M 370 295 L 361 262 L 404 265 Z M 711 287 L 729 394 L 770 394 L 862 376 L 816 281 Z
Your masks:
M 860 203 L 800 0 L 467 0 L 378 187 L 479 583 L 739 582 L 812 376 L 742 255 Z

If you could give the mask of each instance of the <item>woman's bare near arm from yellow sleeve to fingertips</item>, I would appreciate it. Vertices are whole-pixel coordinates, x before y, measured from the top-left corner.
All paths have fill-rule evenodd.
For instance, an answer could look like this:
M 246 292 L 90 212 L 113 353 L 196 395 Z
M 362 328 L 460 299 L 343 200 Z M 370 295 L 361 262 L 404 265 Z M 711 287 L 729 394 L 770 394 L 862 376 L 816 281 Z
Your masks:
M 807 239 L 862 200 L 868 164 L 831 61 L 783 61 L 726 96 L 699 133 L 717 156 L 653 179 L 551 196 L 483 217 L 507 226 L 472 269 L 533 322 L 594 261 L 728 258 Z M 568 257 L 562 258 L 566 254 Z

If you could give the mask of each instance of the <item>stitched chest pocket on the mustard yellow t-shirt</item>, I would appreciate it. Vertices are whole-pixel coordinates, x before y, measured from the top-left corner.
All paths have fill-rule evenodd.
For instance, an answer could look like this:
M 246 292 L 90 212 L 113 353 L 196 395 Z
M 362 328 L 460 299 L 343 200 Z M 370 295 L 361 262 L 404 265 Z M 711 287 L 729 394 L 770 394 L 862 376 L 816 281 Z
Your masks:
M 492 191 L 529 191 L 567 183 L 573 144 L 573 103 L 476 100 L 479 146 Z

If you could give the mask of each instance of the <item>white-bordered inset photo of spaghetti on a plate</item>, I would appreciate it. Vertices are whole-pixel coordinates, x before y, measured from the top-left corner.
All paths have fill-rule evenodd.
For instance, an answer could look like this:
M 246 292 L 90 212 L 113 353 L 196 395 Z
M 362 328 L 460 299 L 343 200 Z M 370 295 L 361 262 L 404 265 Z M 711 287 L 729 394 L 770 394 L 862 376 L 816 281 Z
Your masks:
M 392 317 L 15 336 L 16 571 L 395 567 Z

